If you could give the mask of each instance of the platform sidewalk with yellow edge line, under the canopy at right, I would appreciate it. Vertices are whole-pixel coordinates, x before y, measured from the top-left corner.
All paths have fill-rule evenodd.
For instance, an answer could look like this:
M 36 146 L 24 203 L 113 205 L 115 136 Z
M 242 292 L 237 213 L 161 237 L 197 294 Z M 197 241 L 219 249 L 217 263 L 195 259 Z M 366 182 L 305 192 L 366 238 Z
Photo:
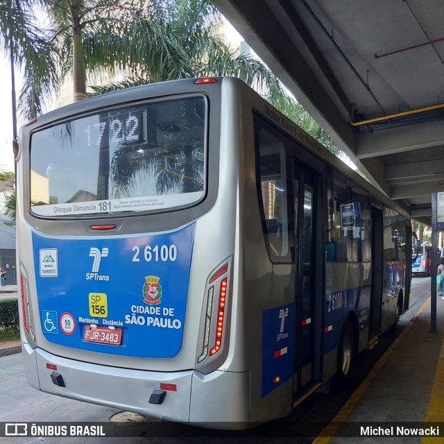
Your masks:
M 428 427 L 444 421 L 444 300 L 436 301 L 436 332 L 430 331 L 431 306 L 428 299 L 323 431 L 325 437 L 316 438 L 314 444 L 355 443 L 356 438 L 345 437 L 343 426 L 390 427 L 404 423 Z M 361 435 L 359 439 L 366 444 L 382 439 L 384 444 L 397 444 L 400 438 Z M 431 439 L 433 443 L 443 442 L 442 436 L 436 438 L 438 441 L 427 436 L 404 436 L 402 442 L 425 444 Z

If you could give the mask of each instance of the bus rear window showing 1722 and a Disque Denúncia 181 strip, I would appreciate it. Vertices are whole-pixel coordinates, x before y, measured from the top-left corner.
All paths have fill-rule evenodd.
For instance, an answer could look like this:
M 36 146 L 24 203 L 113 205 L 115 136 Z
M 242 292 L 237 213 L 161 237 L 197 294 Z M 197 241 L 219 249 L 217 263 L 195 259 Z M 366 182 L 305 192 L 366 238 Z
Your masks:
M 31 136 L 38 216 L 158 212 L 205 194 L 203 96 L 89 114 Z

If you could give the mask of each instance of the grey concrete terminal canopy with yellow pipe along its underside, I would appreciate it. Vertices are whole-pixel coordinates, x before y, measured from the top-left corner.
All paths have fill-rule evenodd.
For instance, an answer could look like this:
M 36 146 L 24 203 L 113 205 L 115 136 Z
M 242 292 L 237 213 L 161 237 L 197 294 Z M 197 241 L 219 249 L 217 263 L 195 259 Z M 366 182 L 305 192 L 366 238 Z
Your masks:
M 442 0 L 213 0 L 366 177 L 430 224 L 444 191 Z

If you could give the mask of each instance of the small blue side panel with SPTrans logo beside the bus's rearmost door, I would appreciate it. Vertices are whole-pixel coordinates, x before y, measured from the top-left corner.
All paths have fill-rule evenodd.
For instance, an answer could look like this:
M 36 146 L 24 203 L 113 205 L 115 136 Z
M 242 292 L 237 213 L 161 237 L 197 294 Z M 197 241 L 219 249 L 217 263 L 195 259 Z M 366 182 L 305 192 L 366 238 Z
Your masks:
M 262 311 L 262 396 L 291 379 L 293 368 L 294 304 Z

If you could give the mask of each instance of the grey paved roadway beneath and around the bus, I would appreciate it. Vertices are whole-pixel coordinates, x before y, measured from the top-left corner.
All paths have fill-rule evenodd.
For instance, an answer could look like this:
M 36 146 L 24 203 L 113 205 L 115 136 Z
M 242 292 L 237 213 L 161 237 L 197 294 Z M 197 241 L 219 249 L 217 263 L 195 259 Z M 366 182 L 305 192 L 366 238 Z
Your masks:
M 430 291 L 430 278 L 413 278 L 412 296 L 410 307 L 407 314 L 402 316 L 398 325 L 398 334 L 418 309 L 427 300 Z M 441 300 L 439 300 L 441 302 Z M 442 301 L 444 303 L 444 301 Z M 194 429 L 186 425 L 176 425 L 163 422 L 147 422 L 146 429 L 142 436 L 125 438 L 125 442 L 138 444 L 146 442 L 151 443 L 197 443 L 197 444 L 279 444 L 291 443 L 302 444 L 311 442 L 308 438 L 294 437 L 294 430 L 298 423 L 313 421 L 330 421 L 334 415 L 341 409 L 345 400 L 351 395 L 360 382 L 366 377 L 368 371 L 373 367 L 375 361 L 384 353 L 386 348 L 393 342 L 396 336 L 382 335 L 379 344 L 373 350 L 366 350 L 357 359 L 355 373 L 350 387 L 339 393 L 339 395 L 325 395 L 314 393 L 300 404 L 288 418 L 283 422 L 272 422 L 269 425 L 261 426 L 259 432 L 253 432 L 253 436 L 230 437 L 224 434 L 218 436 L 217 433 L 208 432 L 203 429 Z M 24 368 L 22 365 L 22 355 L 10 355 L 0 357 L 0 422 L 101 422 L 109 424 L 110 418 L 119 413 L 117 409 L 110 407 L 96 406 L 85 402 L 68 400 L 57 396 L 48 395 L 31 388 L 26 383 Z M 153 420 L 151 420 L 153 421 Z M 161 433 L 166 436 L 159 436 L 159 427 L 162 427 Z M 153 428 L 154 427 L 154 428 Z M 322 428 L 321 428 L 322 429 Z M 319 430 L 319 432 L 321 431 Z M 150 433 L 151 430 L 157 430 L 157 436 Z M 271 438 L 270 431 L 273 431 L 275 437 Z M 268 434 L 268 436 L 267 436 Z M 285 437 L 289 434 L 291 437 Z M 196 436 L 197 435 L 197 436 Z M 171 437 L 168 437 L 171 436 Z M 117 444 L 121 443 L 122 438 L 70 438 L 69 443 L 101 443 Z M 58 444 L 60 438 L 1 438 L 2 444 L 31 444 L 31 443 Z

